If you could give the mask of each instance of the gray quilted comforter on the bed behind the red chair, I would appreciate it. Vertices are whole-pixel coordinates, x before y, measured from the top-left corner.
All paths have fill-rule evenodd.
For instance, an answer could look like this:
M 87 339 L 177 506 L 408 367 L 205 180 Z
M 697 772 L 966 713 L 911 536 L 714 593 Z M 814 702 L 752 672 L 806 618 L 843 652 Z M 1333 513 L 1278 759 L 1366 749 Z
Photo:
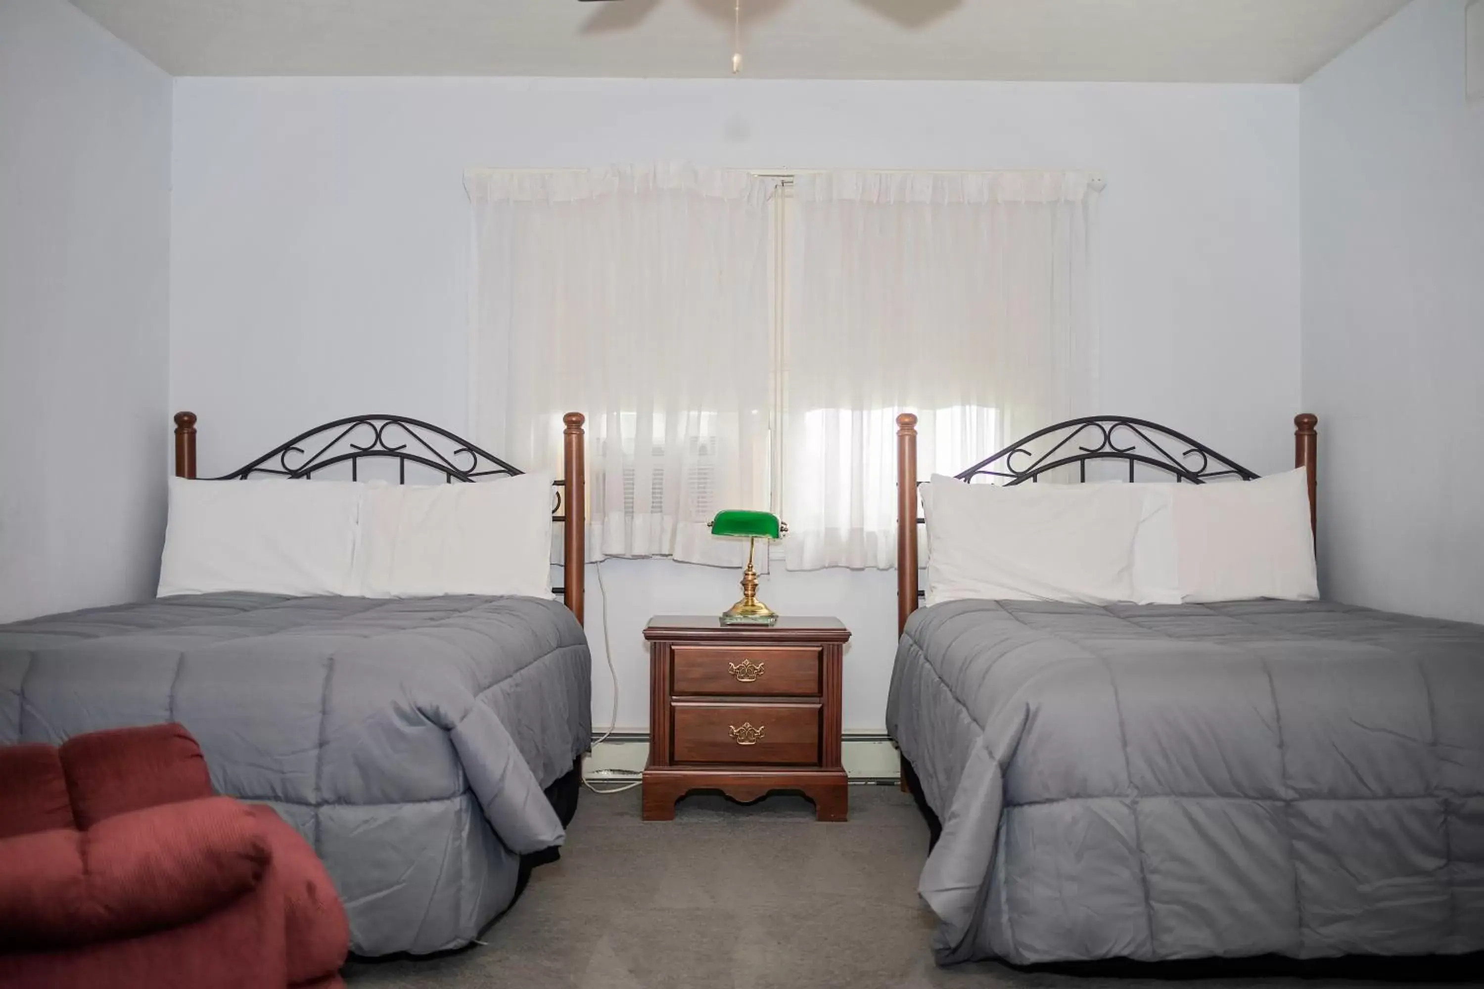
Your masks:
M 315 845 L 355 950 L 432 952 L 562 842 L 542 789 L 588 747 L 589 676 L 552 601 L 162 598 L 0 627 L 0 744 L 178 721 Z

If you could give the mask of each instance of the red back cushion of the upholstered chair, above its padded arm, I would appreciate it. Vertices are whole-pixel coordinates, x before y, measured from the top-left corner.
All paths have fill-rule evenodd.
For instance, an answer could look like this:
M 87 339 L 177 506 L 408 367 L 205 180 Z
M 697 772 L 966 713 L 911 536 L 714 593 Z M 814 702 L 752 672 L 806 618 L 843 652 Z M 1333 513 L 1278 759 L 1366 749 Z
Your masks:
M 212 795 L 200 746 L 177 724 L 74 735 L 61 758 L 83 830 L 114 814 Z

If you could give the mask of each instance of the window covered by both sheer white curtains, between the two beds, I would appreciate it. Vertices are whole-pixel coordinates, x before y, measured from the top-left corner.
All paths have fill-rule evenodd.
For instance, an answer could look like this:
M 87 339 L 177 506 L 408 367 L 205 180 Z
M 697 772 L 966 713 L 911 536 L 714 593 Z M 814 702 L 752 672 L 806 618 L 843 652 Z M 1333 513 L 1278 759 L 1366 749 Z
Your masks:
M 668 165 L 466 187 L 475 436 L 555 463 L 561 412 L 585 412 L 600 558 L 738 562 L 705 523 L 770 507 L 789 568 L 893 566 L 901 411 L 926 474 L 1092 394 L 1083 173 Z

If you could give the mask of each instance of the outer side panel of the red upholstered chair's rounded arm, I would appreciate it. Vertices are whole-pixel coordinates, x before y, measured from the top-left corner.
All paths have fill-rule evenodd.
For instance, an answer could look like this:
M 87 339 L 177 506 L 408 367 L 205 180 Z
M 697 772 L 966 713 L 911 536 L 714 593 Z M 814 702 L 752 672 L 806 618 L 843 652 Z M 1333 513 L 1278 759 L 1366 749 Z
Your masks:
M 350 952 L 350 922 L 325 864 L 272 807 L 257 804 L 252 814 L 273 848 L 273 872 L 283 887 L 289 985 L 340 971 Z

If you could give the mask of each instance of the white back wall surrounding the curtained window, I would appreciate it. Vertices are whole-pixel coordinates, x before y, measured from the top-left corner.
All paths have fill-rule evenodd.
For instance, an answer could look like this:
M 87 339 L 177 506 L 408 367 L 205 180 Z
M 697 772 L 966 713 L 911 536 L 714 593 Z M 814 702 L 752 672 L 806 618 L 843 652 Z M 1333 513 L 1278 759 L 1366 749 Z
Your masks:
M 1103 406 L 1168 421 L 1258 472 L 1291 466 L 1294 86 L 181 79 L 171 400 L 202 417 L 202 470 L 355 412 L 462 430 L 463 169 L 666 159 L 1103 171 Z M 644 620 L 718 611 L 736 574 L 614 560 L 604 580 L 619 725 L 643 728 Z M 592 575 L 589 587 L 601 654 Z M 846 728 L 879 730 L 893 575 L 775 572 L 763 598 L 850 624 Z M 607 724 L 604 670 L 594 685 Z

